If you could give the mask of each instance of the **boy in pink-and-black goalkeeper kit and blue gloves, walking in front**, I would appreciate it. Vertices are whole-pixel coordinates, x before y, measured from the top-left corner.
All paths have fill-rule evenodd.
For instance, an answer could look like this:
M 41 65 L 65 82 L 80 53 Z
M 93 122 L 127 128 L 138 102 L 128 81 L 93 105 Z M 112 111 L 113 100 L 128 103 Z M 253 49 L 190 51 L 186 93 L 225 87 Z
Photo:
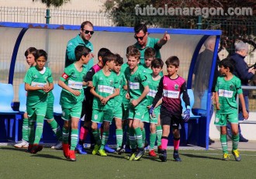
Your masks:
M 161 126 L 163 128 L 163 134 L 161 137 L 161 153 L 159 158 L 161 161 L 166 162 L 167 160 L 167 146 L 168 136 L 170 133 L 170 126 L 174 136 L 174 153 L 173 157 L 175 161 L 182 161 L 178 155 L 178 147 L 180 143 L 179 126 L 182 123 L 182 104 L 180 95 L 183 93 L 183 101 L 185 102 L 186 110 L 184 112 L 185 122 L 190 117 L 190 103 L 189 95 L 187 93 L 187 87 L 185 79 L 177 74 L 179 67 L 178 57 L 172 56 L 165 61 L 167 66 L 168 75 L 161 77 L 157 94 L 154 97 L 154 101 L 150 108 L 150 115 L 154 112 L 154 107 L 157 102 L 162 98 L 162 104 L 160 109 Z

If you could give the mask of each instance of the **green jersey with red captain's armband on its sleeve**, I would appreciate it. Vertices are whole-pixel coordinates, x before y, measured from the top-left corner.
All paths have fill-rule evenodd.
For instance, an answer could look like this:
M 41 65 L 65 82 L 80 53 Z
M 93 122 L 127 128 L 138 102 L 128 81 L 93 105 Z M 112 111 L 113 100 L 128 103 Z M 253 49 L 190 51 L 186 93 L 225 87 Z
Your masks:
M 70 91 L 62 89 L 61 91 L 61 106 L 64 108 L 72 108 L 72 105 L 76 105 L 78 102 L 82 102 L 84 100 L 84 89 L 83 89 L 83 79 L 87 73 L 85 67 L 83 70 L 79 72 L 74 64 L 69 65 L 64 69 L 64 73 L 62 74 L 60 80 L 64 81 L 65 84 L 69 88 L 74 90 L 78 90 L 81 92 L 81 95 L 73 95 Z

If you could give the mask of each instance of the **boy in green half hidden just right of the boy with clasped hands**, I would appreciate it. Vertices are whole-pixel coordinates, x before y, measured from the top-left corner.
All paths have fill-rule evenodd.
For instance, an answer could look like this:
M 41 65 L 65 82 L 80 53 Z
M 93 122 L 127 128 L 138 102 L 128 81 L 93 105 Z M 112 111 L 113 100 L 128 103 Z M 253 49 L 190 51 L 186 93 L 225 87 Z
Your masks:
M 121 65 L 123 64 L 123 58 L 120 57 L 119 54 L 116 54 L 116 65 L 113 71 L 117 74 L 119 81 L 119 89 L 120 94 L 115 97 L 115 108 L 113 111 L 114 119 L 116 122 L 116 153 L 121 154 L 124 153 L 124 149 L 122 147 L 123 144 L 123 108 L 122 102 L 123 97 L 126 95 L 127 83 L 124 74 L 120 71 Z

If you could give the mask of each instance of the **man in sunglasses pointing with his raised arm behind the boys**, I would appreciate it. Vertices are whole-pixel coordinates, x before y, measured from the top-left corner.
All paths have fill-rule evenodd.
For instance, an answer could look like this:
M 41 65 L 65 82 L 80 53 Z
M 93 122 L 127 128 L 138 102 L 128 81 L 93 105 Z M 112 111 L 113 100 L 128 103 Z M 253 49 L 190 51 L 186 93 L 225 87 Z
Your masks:
M 161 47 L 170 40 L 170 35 L 165 32 L 161 40 L 157 38 L 151 38 L 147 33 L 147 26 L 144 23 L 140 23 L 134 27 L 134 38 L 137 40 L 137 43 L 134 46 L 140 50 L 140 63 L 145 64 L 144 62 L 144 52 L 147 47 L 152 47 L 156 50 L 156 57 L 161 58 L 160 49 Z

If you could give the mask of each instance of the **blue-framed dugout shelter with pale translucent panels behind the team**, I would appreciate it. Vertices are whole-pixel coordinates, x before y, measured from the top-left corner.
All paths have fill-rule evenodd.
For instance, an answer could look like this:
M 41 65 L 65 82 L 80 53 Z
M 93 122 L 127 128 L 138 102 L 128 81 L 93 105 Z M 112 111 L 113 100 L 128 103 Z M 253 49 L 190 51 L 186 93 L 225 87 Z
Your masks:
M 15 89 L 14 102 L 19 102 L 19 84 L 22 83 L 22 78 L 29 68 L 24 57 L 25 50 L 30 46 L 34 46 L 36 49 L 47 51 L 47 65 L 53 71 L 54 82 L 57 83 L 64 70 L 67 41 L 77 36 L 79 30 L 80 26 L 0 22 L 0 83 L 13 84 Z M 109 50 L 114 53 L 119 53 L 126 61 L 126 47 L 136 43 L 136 40 L 133 38 L 133 28 L 95 26 L 94 30 L 95 33 L 90 40 L 94 45 L 94 64 L 97 63 L 97 53 L 102 47 L 109 48 Z M 209 59 L 209 79 L 207 79 L 209 84 L 207 85 L 205 93 L 206 102 L 203 103 L 205 106 L 202 107 L 202 104 L 197 104 L 199 102 L 196 100 L 194 105 L 196 108 L 203 108 L 205 114 L 201 114 L 199 120 L 189 121 L 189 133 L 186 139 L 183 139 L 185 132 L 181 133 L 182 143 L 195 144 L 205 147 L 206 150 L 208 150 L 211 88 L 213 86 L 213 75 L 216 67 L 217 49 L 220 42 L 221 31 L 199 29 L 148 29 L 150 33 L 149 36 L 155 38 L 161 38 L 166 31 L 171 34 L 171 40 L 161 48 L 161 58 L 165 61 L 168 57 L 177 56 L 181 62 L 178 74 L 187 79 L 187 86 L 192 89 L 194 88 L 193 81 L 195 81 L 196 77 L 194 75 L 195 63 L 197 63 L 197 57 L 204 48 L 203 43 L 209 36 L 216 36 L 213 59 Z M 166 67 L 164 67 L 163 71 L 165 74 Z M 196 113 L 198 110 L 192 111 L 198 114 Z M 0 126 L 0 129 L 2 130 L 2 126 Z M 2 133 L 0 134 L 2 135 Z M 5 136 L 0 136 L 0 139 L 4 138 Z

